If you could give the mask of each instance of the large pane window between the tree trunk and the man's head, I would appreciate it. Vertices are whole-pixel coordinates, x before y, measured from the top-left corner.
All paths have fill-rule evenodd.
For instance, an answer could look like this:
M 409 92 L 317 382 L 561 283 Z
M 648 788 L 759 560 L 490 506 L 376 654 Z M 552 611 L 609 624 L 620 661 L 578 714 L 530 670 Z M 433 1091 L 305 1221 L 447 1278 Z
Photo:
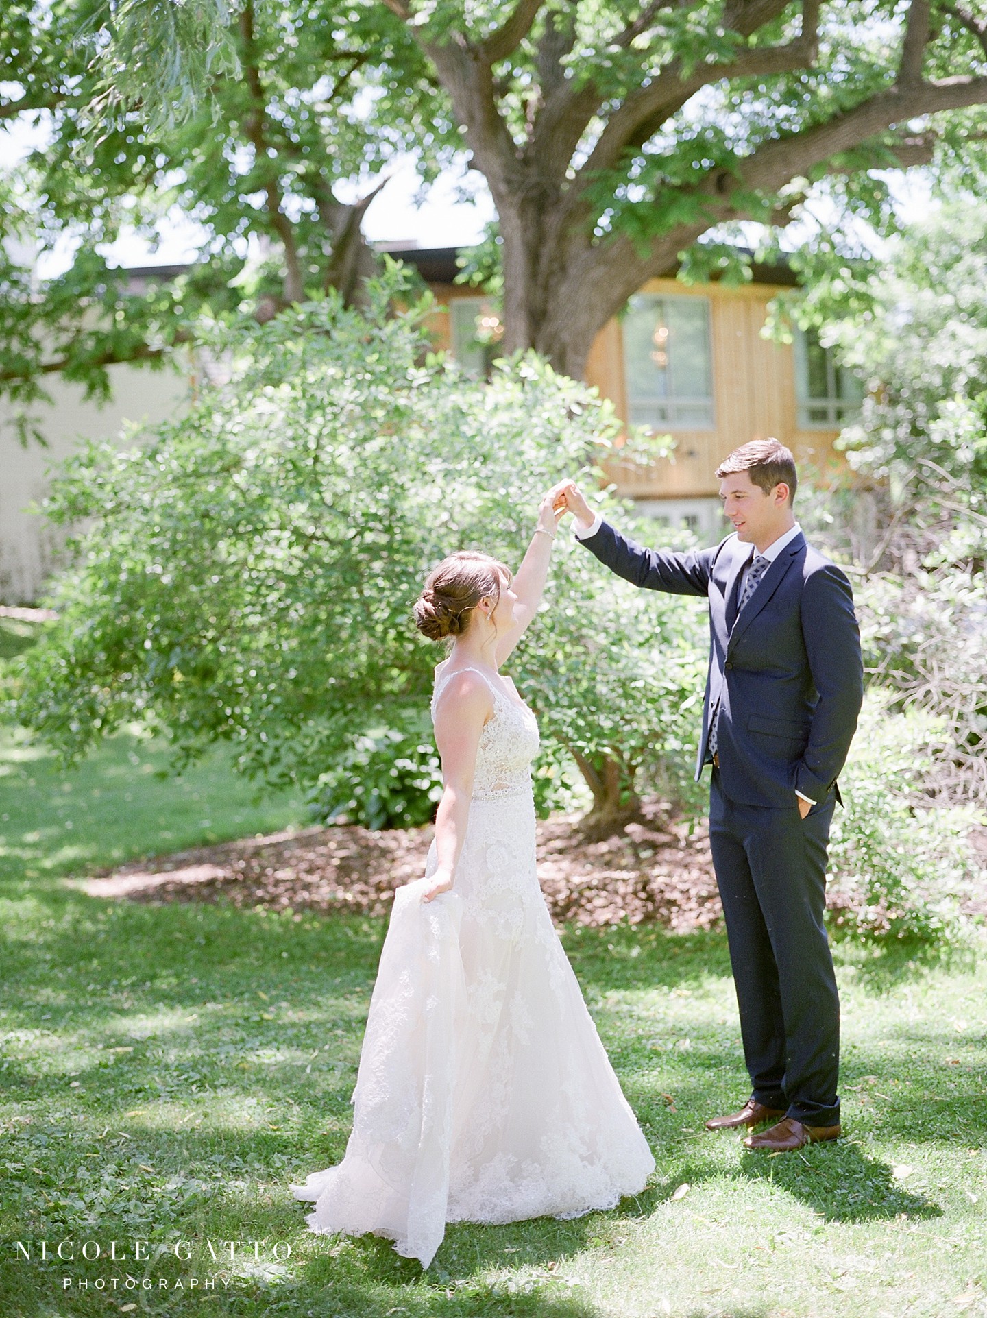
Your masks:
M 623 318 L 623 369 L 631 424 L 712 430 L 709 301 L 635 294 Z

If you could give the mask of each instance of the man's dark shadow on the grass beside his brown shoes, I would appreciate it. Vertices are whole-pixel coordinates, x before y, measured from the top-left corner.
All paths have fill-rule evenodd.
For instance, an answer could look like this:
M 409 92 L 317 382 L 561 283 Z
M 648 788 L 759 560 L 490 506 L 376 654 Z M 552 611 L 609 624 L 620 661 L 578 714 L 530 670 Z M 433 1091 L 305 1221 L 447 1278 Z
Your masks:
M 745 1152 L 738 1176 L 764 1181 L 801 1199 L 826 1222 L 875 1222 L 938 1218 L 942 1209 L 924 1194 L 905 1190 L 891 1168 L 864 1157 L 849 1140 L 810 1144 L 777 1156 Z

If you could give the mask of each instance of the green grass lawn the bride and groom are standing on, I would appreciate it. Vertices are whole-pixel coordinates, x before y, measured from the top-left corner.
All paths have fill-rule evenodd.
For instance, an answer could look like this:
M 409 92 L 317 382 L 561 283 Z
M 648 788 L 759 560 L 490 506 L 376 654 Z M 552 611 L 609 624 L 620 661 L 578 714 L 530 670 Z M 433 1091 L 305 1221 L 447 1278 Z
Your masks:
M 182 783 L 161 762 L 129 738 L 67 776 L 16 739 L 0 759 L 1 1318 L 987 1314 L 987 948 L 932 967 L 841 950 L 847 1137 L 764 1157 L 702 1131 L 746 1097 L 722 937 L 572 932 L 658 1159 L 647 1190 L 575 1222 L 451 1227 L 426 1275 L 386 1242 L 307 1232 L 287 1185 L 343 1155 L 385 927 L 65 887 L 300 818 L 221 757 Z M 119 1261 L 82 1259 L 112 1240 Z

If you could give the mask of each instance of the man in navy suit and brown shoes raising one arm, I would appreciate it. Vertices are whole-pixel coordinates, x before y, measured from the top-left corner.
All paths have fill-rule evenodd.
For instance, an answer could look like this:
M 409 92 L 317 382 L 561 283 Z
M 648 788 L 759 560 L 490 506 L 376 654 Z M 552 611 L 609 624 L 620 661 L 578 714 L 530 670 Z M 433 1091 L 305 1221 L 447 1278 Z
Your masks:
M 709 601 L 696 779 L 713 766 L 710 846 L 752 1091 L 706 1127 L 748 1127 L 748 1148 L 788 1152 L 839 1136 L 839 999 L 822 915 L 837 775 L 863 699 L 860 637 L 850 583 L 795 519 L 791 452 L 755 440 L 716 474 L 735 534 L 685 554 L 635 544 L 572 482 L 561 496 L 611 572 Z

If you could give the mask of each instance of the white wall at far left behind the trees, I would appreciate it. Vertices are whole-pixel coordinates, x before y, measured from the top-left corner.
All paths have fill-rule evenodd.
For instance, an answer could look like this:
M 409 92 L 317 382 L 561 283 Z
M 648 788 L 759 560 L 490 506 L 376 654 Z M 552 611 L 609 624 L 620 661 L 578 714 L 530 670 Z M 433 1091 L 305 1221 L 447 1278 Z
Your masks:
M 79 385 L 46 382 L 53 405 L 37 405 L 47 448 L 30 443 L 21 448 L 9 424 L 13 410 L 0 403 L 0 604 L 30 604 L 43 590 L 46 576 L 58 563 L 63 532 L 30 513 L 41 505 L 50 472 L 72 453 L 80 440 L 119 439 L 124 420 L 155 424 L 182 406 L 188 394 L 187 376 L 166 366 L 109 368 L 112 402 L 99 407 L 83 402 Z

